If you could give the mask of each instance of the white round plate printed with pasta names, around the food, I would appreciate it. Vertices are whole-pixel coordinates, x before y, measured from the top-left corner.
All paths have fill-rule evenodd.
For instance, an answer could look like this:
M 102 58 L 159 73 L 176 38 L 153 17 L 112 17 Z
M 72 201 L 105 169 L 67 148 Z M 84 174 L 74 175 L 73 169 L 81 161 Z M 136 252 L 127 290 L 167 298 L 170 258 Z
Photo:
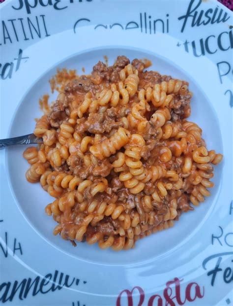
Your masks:
M 1 4 L 4 25 L 0 41 L 3 78 L 0 80 L 0 138 L 33 130 L 34 118 L 41 116 L 38 99 L 49 92 L 48 80 L 57 68 L 75 68 L 81 74 L 85 67 L 88 73 L 104 56 L 108 56 L 111 64 L 121 54 L 131 60 L 148 58 L 153 63 L 150 69 L 189 81 L 194 93 L 190 120 L 203 129 L 207 147 L 224 154 L 223 162 L 215 167 L 215 187 L 204 204 L 183 214 L 174 228 L 137 241 L 136 248 L 130 251 L 115 253 L 86 243 L 74 248 L 60 237 L 54 237 L 52 230 L 56 223 L 44 213 L 45 205 L 52 202 L 52 198 L 39 184 L 26 181 L 28 164 L 22 157 L 24 147 L 1 151 L 0 299 L 3 303 L 161 306 L 181 305 L 185 301 L 185 305 L 233 304 L 233 93 L 230 79 L 233 40 L 229 36 L 233 20 L 231 12 L 215 1 L 194 2 L 15 0 Z M 52 4 L 43 6 L 43 3 Z M 192 27 L 192 16 L 187 18 L 186 24 L 185 18 L 178 19 L 195 7 L 198 14 L 204 10 L 209 16 L 211 10 L 215 9 L 218 16 L 222 9 L 220 17 L 224 20 Z M 12 23 L 17 30 L 14 31 Z M 164 33 L 161 33 L 163 25 Z M 195 56 L 195 52 L 201 54 L 200 39 L 205 55 Z M 11 62 L 13 64 L 7 64 Z M 222 270 L 216 271 L 214 279 L 217 262 Z M 53 281 L 58 283 L 61 273 L 64 273 L 62 284 L 65 275 L 69 275 L 68 285 L 56 289 Z M 22 283 L 14 292 L 16 280 L 20 284 L 25 279 L 29 285 L 29 279 L 33 281 L 37 276 L 37 288 L 35 281 L 27 292 Z M 176 279 L 176 294 L 174 284 L 168 283 L 175 277 L 180 279 L 182 301 L 178 297 L 179 281 Z M 135 286 L 131 301 L 131 290 Z M 166 289 L 168 287 L 172 289 Z M 124 289 L 129 290 L 128 299 L 126 293 L 120 296 Z M 175 304 L 171 301 L 168 304 L 168 297 L 166 304 L 166 292 L 174 298 Z M 156 294 L 161 298 L 152 297 Z

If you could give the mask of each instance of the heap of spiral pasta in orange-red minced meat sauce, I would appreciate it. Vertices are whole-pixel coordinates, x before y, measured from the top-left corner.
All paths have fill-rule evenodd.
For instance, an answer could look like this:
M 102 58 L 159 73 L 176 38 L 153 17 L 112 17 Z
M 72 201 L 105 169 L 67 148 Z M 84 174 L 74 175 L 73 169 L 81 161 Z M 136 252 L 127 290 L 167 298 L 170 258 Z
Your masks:
M 125 56 L 98 62 L 64 83 L 36 123 L 43 143 L 24 152 L 26 177 L 55 198 L 45 208 L 54 234 L 74 245 L 130 249 L 210 195 L 222 155 L 187 121 L 188 83 L 148 67 Z

